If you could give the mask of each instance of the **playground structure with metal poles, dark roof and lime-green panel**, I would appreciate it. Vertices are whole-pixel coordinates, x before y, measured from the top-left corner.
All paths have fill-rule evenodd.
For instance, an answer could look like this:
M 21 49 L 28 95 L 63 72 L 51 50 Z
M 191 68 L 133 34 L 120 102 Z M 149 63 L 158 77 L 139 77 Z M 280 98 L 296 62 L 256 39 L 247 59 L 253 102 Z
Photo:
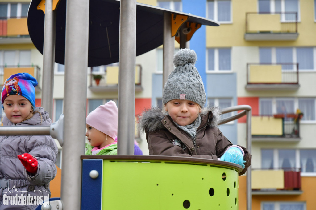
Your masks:
M 125 191 L 123 196 L 126 198 L 125 200 L 127 200 L 127 205 L 137 205 L 139 209 L 142 209 L 142 207 L 145 209 L 145 207 L 149 205 L 157 207 L 156 209 L 183 209 L 189 208 L 190 206 L 201 209 L 203 207 L 203 209 L 205 209 L 206 206 L 214 208 L 220 207 L 223 209 L 238 209 L 238 172 L 241 170 L 240 166 L 223 161 L 197 160 L 195 158 L 184 159 L 166 156 L 142 156 L 136 158 L 136 156 L 132 156 L 132 154 L 134 154 L 134 142 L 129 141 L 134 139 L 135 57 L 163 44 L 164 83 L 169 73 L 173 70 L 172 57 L 174 39 L 177 32 L 179 37 L 176 39 L 178 39 L 180 43 L 180 48 L 185 48 L 187 47 L 187 41 L 190 40 L 195 30 L 197 30 L 201 24 L 210 26 L 219 26 L 219 24 L 215 21 L 195 15 L 139 4 L 136 3 L 136 0 L 82 0 L 80 2 L 66 2 L 64 0 L 55 2 L 46 0 L 43 2 L 33 0 L 28 12 L 30 37 L 33 44 L 43 54 L 42 106 L 48 112 L 52 113 L 53 66 L 55 61 L 62 63 L 65 65 L 64 116 L 50 127 L 32 126 L 31 129 L 1 127 L 0 133 L 1 135 L 51 135 L 59 140 L 63 146 L 60 199 L 62 205 L 59 204 L 59 209 L 88 209 L 85 208 L 86 204 L 84 200 L 88 201 L 88 204 L 91 204 L 93 201 L 90 199 L 98 198 L 94 195 L 103 196 L 99 198 L 101 201 L 99 200 L 99 202 L 97 202 L 100 203 L 100 207 L 94 209 L 105 209 L 105 206 L 102 207 L 101 203 L 106 193 L 109 192 L 107 192 L 105 188 L 102 189 L 102 186 L 111 184 L 106 182 L 106 178 L 112 177 L 113 174 L 109 172 L 114 170 L 116 171 L 115 176 L 120 176 L 117 180 L 124 180 L 124 183 L 116 182 L 115 185 L 113 185 L 113 187 L 116 188 L 115 194 L 120 195 L 117 196 L 117 202 L 120 202 L 122 192 Z M 107 5 L 110 10 L 115 11 L 113 8 L 116 8 L 116 12 L 119 13 L 119 21 L 117 20 L 118 15 L 116 15 L 113 17 L 116 18 L 116 22 L 110 22 L 113 25 L 116 23 L 120 26 L 118 27 L 116 25 L 114 35 L 107 33 L 108 37 L 116 36 L 117 41 L 114 42 L 114 45 L 107 42 L 107 44 L 103 46 L 101 51 L 108 50 L 109 54 L 106 54 L 106 58 L 99 60 L 94 59 L 94 56 L 99 55 L 100 51 L 96 50 L 97 45 L 93 43 L 93 41 L 97 43 L 100 42 L 100 39 L 91 37 L 92 34 L 95 34 L 95 30 L 97 30 L 97 28 L 91 27 L 91 25 L 93 25 L 91 24 L 91 22 L 93 22 L 91 17 L 93 15 L 96 16 L 96 14 L 90 14 L 98 2 L 101 2 L 103 6 Z M 100 7 L 100 5 L 97 6 Z M 43 7 L 45 9 L 43 9 Z M 145 14 L 144 17 L 138 15 L 142 11 Z M 106 14 L 105 11 L 102 11 L 102 13 Z M 147 17 L 146 20 L 150 20 L 151 17 L 156 17 L 156 19 L 152 18 L 152 20 L 156 21 L 154 26 L 149 27 L 152 31 L 141 30 L 142 24 L 137 21 L 143 20 L 145 17 Z M 109 24 L 109 22 L 104 21 L 101 21 L 101 23 Z M 56 28 L 56 26 L 61 25 L 61 28 Z M 102 24 L 100 26 L 102 26 Z M 143 27 L 148 28 L 148 26 L 144 24 Z M 90 31 L 91 28 L 93 29 L 92 31 Z M 189 28 L 191 32 L 188 32 Z M 137 30 L 140 30 L 140 32 L 137 32 Z M 108 30 L 106 29 L 106 31 Z M 157 36 L 150 36 L 152 34 L 157 34 Z M 147 35 L 147 37 L 151 37 L 152 39 L 147 39 L 146 44 L 144 44 L 145 46 L 137 47 L 137 43 L 142 43 L 142 41 L 137 42 L 138 35 L 140 37 L 142 37 L 142 35 L 146 37 Z M 104 39 L 104 37 L 105 36 L 102 36 L 101 38 Z M 128 39 L 126 37 L 128 37 Z M 107 39 L 109 40 L 109 38 Z M 95 54 L 90 54 L 90 52 L 95 52 Z M 95 156 L 81 156 L 84 154 L 83 140 L 85 136 L 86 118 L 87 67 L 106 65 L 117 61 L 119 61 L 120 101 L 118 126 L 118 138 L 120 139 L 120 143 L 118 144 L 118 155 L 98 156 L 97 158 Z M 81 94 L 73 94 L 74 92 L 80 92 Z M 222 113 L 238 110 L 244 111 L 222 120 L 221 123 L 223 124 L 247 115 L 247 148 L 251 151 L 251 108 L 247 105 L 230 107 L 224 109 Z M 76 112 L 75 115 L 73 114 L 74 112 Z M 80 139 L 82 139 L 82 144 L 80 143 Z M 77 152 L 74 153 L 74 151 Z M 91 160 L 91 158 L 94 160 Z M 93 164 L 91 164 L 92 162 Z M 153 179 L 155 186 L 147 185 L 150 174 L 153 173 L 157 176 L 156 178 L 158 178 L 158 172 L 165 171 L 170 174 L 175 174 L 176 171 L 182 171 L 183 167 L 185 167 L 186 170 L 188 167 L 191 167 L 191 171 L 199 171 L 197 178 L 199 182 L 194 182 L 196 189 L 190 191 L 201 191 L 200 187 L 206 186 L 208 188 L 206 191 L 208 194 L 201 192 L 201 195 L 188 195 L 189 192 L 184 191 L 186 186 L 181 186 L 181 182 L 174 182 L 174 180 L 167 180 L 166 178 Z M 109 168 L 114 169 L 107 170 Z M 172 170 L 175 171 L 172 172 Z M 251 168 L 249 170 L 251 170 Z M 90 173 L 91 171 L 93 172 Z M 126 171 L 128 171 L 128 173 L 126 173 Z M 79 172 L 79 174 L 74 175 L 74 172 Z M 134 174 L 131 174 L 131 172 L 134 172 Z M 187 174 L 187 176 L 191 177 L 192 174 Z M 137 180 L 135 180 L 135 177 L 137 177 Z M 162 177 L 164 177 L 164 175 Z M 219 182 L 214 184 L 214 180 L 219 180 Z M 99 186 L 101 188 L 100 190 L 102 190 L 102 194 L 94 192 L 96 194 L 90 194 L 91 198 L 88 197 L 85 194 L 88 192 L 86 191 L 87 186 L 84 186 L 84 184 L 88 183 L 93 183 L 94 187 Z M 135 185 L 135 183 L 137 185 Z M 250 183 L 251 174 L 247 173 L 248 210 L 251 209 Z M 88 186 L 92 188 L 91 185 Z M 139 187 L 137 191 L 138 194 L 133 191 L 133 189 L 136 188 L 135 186 Z M 127 190 L 128 188 L 130 188 L 130 190 Z M 219 194 L 217 194 L 218 191 L 220 191 Z M 188 199 L 186 199 L 184 195 L 188 196 Z M 139 200 L 135 200 L 135 196 L 137 196 Z M 154 200 L 150 200 L 149 198 Z M 148 199 L 148 201 L 143 202 L 146 199 Z M 205 200 L 207 200 L 207 202 L 205 202 Z M 214 200 L 217 202 L 214 202 Z M 205 204 L 203 204 L 205 206 L 202 206 L 201 201 L 205 202 Z M 112 202 L 115 201 L 112 200 Z M 140 202 L 143 203 L 140 204 Z M 103 204 L 104 203 L 105 202 L 103 202 Z M 198 206 L 197 203 L 200 203 L 201 206 Z M 91 206 L 89 207 L 91 208 Z

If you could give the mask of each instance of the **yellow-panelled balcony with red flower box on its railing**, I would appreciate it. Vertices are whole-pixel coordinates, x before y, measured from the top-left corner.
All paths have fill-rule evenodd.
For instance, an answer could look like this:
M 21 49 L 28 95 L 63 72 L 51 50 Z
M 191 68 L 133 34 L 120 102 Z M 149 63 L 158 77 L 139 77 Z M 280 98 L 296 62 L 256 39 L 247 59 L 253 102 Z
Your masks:
M 303 114 L 252 116 L 251 137 L 256 142 L 299 142 Z

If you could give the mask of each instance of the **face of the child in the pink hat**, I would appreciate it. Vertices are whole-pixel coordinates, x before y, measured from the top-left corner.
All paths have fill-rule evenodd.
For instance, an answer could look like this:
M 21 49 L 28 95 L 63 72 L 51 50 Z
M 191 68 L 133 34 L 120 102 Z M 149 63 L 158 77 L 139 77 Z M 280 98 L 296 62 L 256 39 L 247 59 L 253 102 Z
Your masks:
M 88 124 L 86 124 L 86 127 L 86 137 L 88 137 L 91 146 L 102 148 L 108 145 L 106 141 L 106 134 L 102 133 L 101 131 L 95 129 L 94 127 Z

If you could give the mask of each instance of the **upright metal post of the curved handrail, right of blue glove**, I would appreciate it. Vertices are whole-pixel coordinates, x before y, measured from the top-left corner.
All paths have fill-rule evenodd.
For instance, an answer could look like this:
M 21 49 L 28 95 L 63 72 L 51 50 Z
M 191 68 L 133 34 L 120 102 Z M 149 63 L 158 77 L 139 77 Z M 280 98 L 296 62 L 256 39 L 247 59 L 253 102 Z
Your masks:
M 251 110 L 247 111 L 246 115 L 246 132 L 247 132 L 247 149 L 251 154 Z M 248 167 L 246 172 L 246 188 L 247 188 L 247 210 L 251 210 L 251 166 Z

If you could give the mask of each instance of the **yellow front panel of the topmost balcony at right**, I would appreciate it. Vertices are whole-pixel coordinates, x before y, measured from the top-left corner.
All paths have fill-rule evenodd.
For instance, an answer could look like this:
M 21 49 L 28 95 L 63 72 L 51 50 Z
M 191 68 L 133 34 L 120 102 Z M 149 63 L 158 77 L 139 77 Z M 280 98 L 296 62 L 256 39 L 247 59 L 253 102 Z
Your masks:
M 248 32 L 280 32 L 280 14 L 248 14 Z

